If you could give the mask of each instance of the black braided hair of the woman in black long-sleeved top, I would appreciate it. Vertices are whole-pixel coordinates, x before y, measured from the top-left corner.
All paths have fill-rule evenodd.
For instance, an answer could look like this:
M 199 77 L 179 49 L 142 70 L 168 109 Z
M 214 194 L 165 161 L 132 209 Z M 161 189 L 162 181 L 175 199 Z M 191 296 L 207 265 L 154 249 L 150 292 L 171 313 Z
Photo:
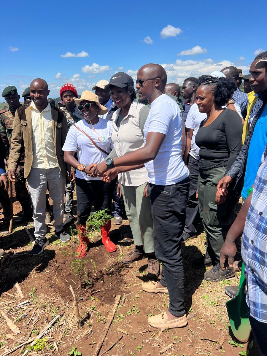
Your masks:
M 209 87 L 214 96 L 214 103 L 218 106 L 224 106 L 236 89 L 235 82 L 231 78 L 201 75 L 198 80 L 199 86 Z

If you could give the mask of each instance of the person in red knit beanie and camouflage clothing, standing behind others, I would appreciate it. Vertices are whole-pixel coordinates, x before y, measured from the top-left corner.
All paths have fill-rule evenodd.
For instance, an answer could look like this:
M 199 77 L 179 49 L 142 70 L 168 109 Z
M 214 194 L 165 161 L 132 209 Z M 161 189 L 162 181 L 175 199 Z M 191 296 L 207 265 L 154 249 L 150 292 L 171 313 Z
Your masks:
M 64 84 L 60 91 L 59 96 L 63 101 L 63 106 L 60 108 L 63 110 L 67 117 L 68 127 L 76 124 L 76 122 L 83 119 L 81 111 L 77 109 L 73 98 L 78 98 L 78 93 L 74 85 L 71 83 Z M 73 191 L 74 191 L 74 176 L 75 172 L 72 172 L 72 177 L 65 187 L 65 215 L 64 225 L 68 225 L 72 222 L 72 208 L 73 208 Z

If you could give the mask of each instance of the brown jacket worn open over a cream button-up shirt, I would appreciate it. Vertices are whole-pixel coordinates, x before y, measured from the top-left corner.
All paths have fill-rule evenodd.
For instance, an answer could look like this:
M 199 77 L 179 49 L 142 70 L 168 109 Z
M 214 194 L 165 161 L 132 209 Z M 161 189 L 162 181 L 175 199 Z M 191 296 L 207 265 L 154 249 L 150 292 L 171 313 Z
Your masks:
M 59 169 L 67 177 L 67 172 L 70 171 L 70 166 L 64 162 L 64 152 L 62 151 L 68 132 L 66 114 L 53 105 L 51 105 L 51 114 L 54 146 Z M 26 178 L 31 171 L 32 158 L 33 155 L 35 155 L 32 147 L 31 109 L 28 105 L 21 106 L 15 113 L 9 154 L 9 169 L 16 169 L 22 153 L 25 153 L 24 177 Z

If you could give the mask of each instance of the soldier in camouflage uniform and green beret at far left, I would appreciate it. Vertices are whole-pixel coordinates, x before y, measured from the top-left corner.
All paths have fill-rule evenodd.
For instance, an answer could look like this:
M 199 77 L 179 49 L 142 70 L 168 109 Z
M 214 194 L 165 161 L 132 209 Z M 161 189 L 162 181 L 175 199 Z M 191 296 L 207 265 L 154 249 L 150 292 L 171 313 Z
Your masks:
M 6 165 L 8 166 L 15 111 L 22 105 L 20 104 L 20 96 L 17 93 L 17 88 L 14 86 L 6 87 L 2 92 L 2 97 L 5 98 L 9 105 L 9 109 L 0 111 L 0 135 L 4 143 Z M 17 200 L 19 200 L 23 211 L 21 218 L 14 221 L 16 224 L 32 220 L 30 196 L 26 188 L 26 179 L 23 177 L 24 161 L 24 156 L 22 156 L 16 167 L 16 176 L 18 179 L 17 182 L 15 182 L 15 191 Z

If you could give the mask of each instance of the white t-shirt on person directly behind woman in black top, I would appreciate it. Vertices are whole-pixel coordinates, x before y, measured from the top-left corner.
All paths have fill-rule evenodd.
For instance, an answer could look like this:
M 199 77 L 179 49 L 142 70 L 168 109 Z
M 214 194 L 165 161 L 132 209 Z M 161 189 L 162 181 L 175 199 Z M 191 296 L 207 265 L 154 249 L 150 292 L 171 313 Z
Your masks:
M 193 129 L 193 136 L 191 140 L 191 150 L 189 152 L 189 155 L 194 157 L 199 161 L 199 147 L 195 144 L 195 135 L 197 135 L 198 129 L 200 122 L 206 119 L 207 114 L 203 114 L 202 112 L 199 112 L 198 110 L 198 105 L 197 103 L 193 104 L 191 108 L 188 111 L 187 118 L 185 121 L 185 127 L 187 129 Z

